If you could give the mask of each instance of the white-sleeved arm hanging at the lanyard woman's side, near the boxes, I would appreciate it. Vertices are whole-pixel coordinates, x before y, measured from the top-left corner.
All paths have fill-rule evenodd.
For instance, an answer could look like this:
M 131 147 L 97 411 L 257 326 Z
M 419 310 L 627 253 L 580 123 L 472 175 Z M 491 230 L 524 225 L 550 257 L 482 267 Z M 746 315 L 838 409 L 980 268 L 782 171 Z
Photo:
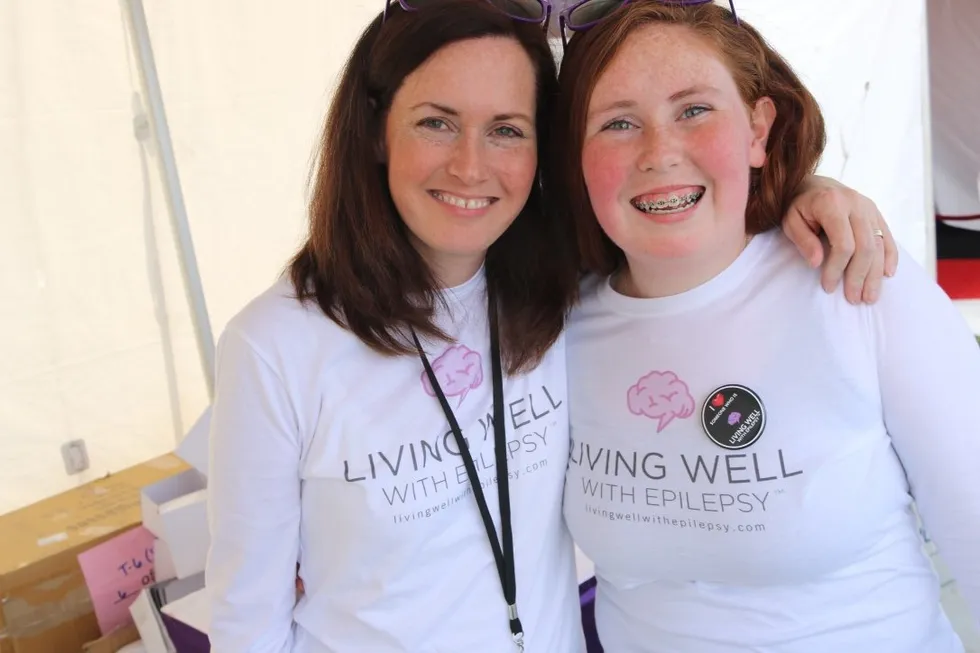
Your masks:
M 229 327 L 218 345 L 208 478 L 214 653 L 292 647 L 301 453 L 283 379 Z

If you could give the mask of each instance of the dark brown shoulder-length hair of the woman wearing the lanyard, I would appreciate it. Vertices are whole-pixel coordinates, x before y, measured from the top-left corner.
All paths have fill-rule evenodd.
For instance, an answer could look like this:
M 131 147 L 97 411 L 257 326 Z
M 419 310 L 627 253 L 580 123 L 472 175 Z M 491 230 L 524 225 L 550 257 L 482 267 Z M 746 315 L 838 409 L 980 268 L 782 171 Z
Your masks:
M 448 340 L 433 323 L 436 280 L 395 209 L 379 155 L 384 124 L 405 78 L 441 48 L 468 39 L 514 39 L 537 75 L 539 165 L 549 141 L 557 72 L 539 26 L 485 0 L 443 0 L 412 12 L 397 3 L 351 52 L 323 130 L 309 209 L 309 236 L 290 265 L 298 296 L 385 355 L 413 353 L 406 337 Z M 510 374 L 531 369 L 555 343 L 577 292 L 574 236 L 544 211 L 535 184 L 521 213 L 490 246 L 485 270 L 497 297 L 500 345 Z

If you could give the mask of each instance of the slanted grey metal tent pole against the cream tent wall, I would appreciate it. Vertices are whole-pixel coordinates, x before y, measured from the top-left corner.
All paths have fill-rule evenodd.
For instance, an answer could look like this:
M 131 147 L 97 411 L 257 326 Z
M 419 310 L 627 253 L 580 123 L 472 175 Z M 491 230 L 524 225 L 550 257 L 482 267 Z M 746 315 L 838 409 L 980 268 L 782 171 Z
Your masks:
M 122 4 L 129 23 L 129 32 L 133 39 L 133 49 L 136 51 L 136 58 L 139 61 L 143 97 L 149 104 L 150 124 L 153 127 L 153 135 L 159 155 L 157 159 L 166 187 L 167 208 L 174 233 L 177 236 L 184 289 L 191 307 L 191 317 L 194 320 L 194 330 L 197 334 L 198 354 L 201 357 L 201 366 L 204 368 L 204 381 L 210 400 L 214 398 L 214 335 L 208 318 L 208 308 L 204 298 L 201 274 L 197 267 L 197 257 L 194 254 L 194 243 L 191 239 L 190 226 L 187 220 L 187 207 L 184 205 L 180 176 L 177 174 L 177 161 L 174 156 L 173 142 L 170 140 L 170 128 L 167 125 L 163 93 L 160 90 L 160 80 L 157 77 L 156 62 L 153 58 L 150 31 L 146 24 L 142 0 L 122 0 Z

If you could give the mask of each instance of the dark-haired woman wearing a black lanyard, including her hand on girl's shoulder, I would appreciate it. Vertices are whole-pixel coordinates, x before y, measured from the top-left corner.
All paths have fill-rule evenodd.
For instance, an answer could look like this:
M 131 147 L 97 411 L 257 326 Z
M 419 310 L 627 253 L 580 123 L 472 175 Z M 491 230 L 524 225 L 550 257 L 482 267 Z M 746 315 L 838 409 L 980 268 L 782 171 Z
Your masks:
M 579 273 L 538 170 L 548 16 L 399 0 L 355 45 L 309 238 L 218 347 L 214 653 L 582 650 L 561 515 Z M 827 196 L 790 222 L 804 244 L 823 224 L 842 254 L 824 267 L 860 295 L 882 261 L 851 252 L 878 216 Z

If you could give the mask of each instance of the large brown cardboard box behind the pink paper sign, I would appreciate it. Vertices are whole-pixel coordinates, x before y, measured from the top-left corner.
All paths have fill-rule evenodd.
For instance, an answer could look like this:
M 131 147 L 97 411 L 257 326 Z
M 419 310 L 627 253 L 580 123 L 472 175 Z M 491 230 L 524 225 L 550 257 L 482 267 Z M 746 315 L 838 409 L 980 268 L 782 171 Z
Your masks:
M 99 639 L 78 554 L 138 526 L 142 489 L 187 469 L 166 454 L 0 516 L 0 653 L 79 653 Z

